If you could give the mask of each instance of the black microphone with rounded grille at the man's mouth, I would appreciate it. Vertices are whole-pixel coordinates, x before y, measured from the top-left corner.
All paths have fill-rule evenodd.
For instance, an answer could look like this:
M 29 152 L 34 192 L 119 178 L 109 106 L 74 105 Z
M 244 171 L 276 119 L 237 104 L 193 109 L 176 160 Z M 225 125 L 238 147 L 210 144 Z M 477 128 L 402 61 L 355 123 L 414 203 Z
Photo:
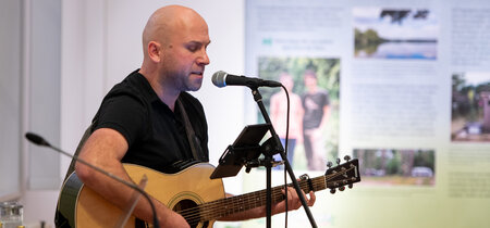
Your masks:
M 257 87 L 281 87 L 282 85 L 274 80 L 262 80 L 260 78 L 231 75 L 219 71 L 212 75 L 212 84 L 217 87 L 225 86 L 247 86 L 250 89 Z

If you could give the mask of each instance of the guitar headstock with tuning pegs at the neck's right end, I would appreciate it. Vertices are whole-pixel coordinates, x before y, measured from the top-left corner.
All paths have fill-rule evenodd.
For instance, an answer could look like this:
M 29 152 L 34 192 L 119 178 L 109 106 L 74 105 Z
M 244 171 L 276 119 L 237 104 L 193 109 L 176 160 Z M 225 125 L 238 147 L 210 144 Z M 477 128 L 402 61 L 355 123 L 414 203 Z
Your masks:
M 360 181 L 359 175 L 359 161 L 357 159 L 351 160 L 350 156 L 345 156 L 346 161 L 343 164 L 340 159 L 336 159 L 336 166 L 332 167 L 332 163 L 329 162 L 327 166 L 329 169 L 324 173 L 326 186 L 330 189 L 330 193 L 335 193 L 335 189 L 343 191 L 345 186 L 353 187 L 353 183 Z

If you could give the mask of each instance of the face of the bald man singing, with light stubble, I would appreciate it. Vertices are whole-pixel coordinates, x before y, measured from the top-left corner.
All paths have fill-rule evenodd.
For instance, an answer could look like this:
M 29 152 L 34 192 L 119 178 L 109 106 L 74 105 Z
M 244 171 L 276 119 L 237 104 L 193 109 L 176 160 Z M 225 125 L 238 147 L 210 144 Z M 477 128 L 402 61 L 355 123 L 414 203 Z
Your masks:
M 210 43 L 208 26 L 200 18 L 179 23 L 163 45 L 162 71 L 168 85 L 179 91 L 196 91 L 209 64 L 206 48 Z

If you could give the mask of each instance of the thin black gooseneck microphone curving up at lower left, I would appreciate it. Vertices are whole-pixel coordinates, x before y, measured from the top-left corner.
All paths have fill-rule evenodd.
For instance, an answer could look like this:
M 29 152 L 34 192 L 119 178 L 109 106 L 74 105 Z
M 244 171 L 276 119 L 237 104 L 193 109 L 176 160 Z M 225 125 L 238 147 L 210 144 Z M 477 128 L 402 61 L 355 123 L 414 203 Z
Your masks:
M 124 179 L 121 179 L 120 177 L 118 177 L 118 176 L 115 176 L 115 175 L 113 175 L 113 174 L 111 174 L 109 172 L 106 172 L 102 168 L 99 168 L 99 167 L 97 167 L 97 166 L 86 162 L 83 159 L 79 159 L 77 155 L 72 155 L 72 154 L 70 154 L 68 152 L 62 151 L 59 148 L 56 148 L 56 147 L 51 145 L 48 141 L 46 141 L 39 135 L 36 135 L 34 132 L 26 132 L 25 134 L 25 138 L 27 138 L 27 140 L 29 140 L 30 142 L 33 142 L 33 143 L 35 143 L 37 145 L 51 148 L 52 150 L 54 150 L 54 151 L 57 151 L 57 152 L 59 152 L 59 153 L 61 153 L 63 155 L 70 156 L 70 157 L 74 159 L 75 161 L 77 161 L 77 162 L 79 162 L 79 163 L 82 163 L 82 164 L 84 164 L 84 165 L 86 165 L 86 166 L 88 166 L 88 167 L 90 167 L 90 168 L 93 168 L 93 169 L 95 169 L 95 170 L 97 170 L 97 172 L 99 172 L 99 173 L 101 173 L 101 174 L 103 174 L 103 175 L 106 175 L 106 176 L 108 176 L 108 177 L 110 177 L 110 178 L 112 178 L 112 179 L 114 179 L 114 180 L 117 180 L 117 181 L 119 181 L 119 182 L 121 182 L 121 183 L 123 183 L 123 185 L 125 185 L 125 186 L 136 190 L 137 192 L 143 194 L 146 198 L 146 200 L 148 200 L 148 202 L 149 202 L 149 204 L 151 206 L 151 212 L 154 213 L 154 226 L 157 227 L 157 228 L 160 227 L 160 225 L 158 224 L 157 211 L 155 210 L 154 202 L 151 201 L 149 195 L 143 189 L 140 189 L 138 186 L 136 186 L 135 183 L 128 182 L 128 181 L 126 181 Z

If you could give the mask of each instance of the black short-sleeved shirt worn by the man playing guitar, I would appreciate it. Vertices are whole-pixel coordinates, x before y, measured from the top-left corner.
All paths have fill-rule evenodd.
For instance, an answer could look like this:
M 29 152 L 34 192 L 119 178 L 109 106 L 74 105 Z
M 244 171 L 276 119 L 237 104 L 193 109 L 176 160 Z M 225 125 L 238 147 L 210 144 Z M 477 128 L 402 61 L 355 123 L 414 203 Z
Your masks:
M 200 149 L 199 161 L 208 162 L 208 127 L 200 102 L 187 92 L 181 100 Z M 192 161 L 193 153 L 179 106 L 172 112 L 155 93 L 148 80 L 131 73 L 105 97 L 94 118 L 94 129 L 111 128 L 127 141 L 123 163 L 167 172 L 175 162 Z

